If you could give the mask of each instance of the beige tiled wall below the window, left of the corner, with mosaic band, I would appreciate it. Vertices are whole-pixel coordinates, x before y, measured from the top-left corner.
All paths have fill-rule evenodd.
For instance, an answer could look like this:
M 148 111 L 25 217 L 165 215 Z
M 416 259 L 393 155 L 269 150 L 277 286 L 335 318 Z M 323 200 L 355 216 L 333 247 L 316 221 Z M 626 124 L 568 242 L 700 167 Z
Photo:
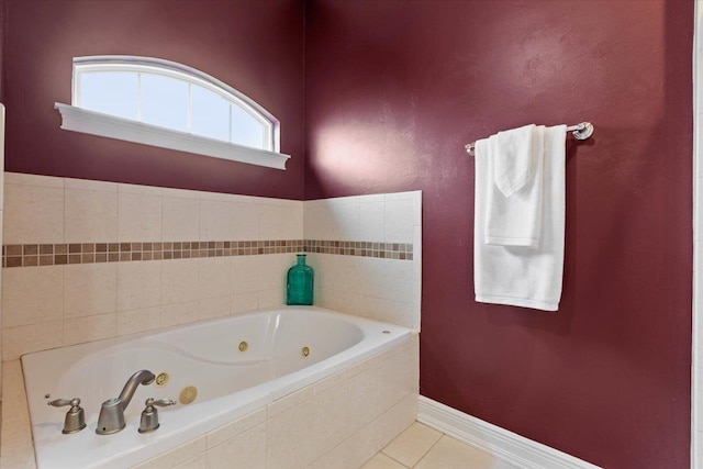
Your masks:
M 300 201 L 11 172 L 5 182 L 4 263 L 26 267 L 3 269 L 3 360 L 284 302 Z

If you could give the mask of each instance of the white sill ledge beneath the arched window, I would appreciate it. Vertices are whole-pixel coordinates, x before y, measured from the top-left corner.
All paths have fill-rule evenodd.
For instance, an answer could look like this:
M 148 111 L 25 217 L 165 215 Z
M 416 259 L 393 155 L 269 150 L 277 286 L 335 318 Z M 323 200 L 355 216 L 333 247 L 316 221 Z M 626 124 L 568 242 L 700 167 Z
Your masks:
M 99 135 L 160 148 L 177 149 L 197 155 L 230 159 L 267 168 L 286 169 L 290 155 L 250 148 L 228 142 L 171 131 L 156 125 L 130 121 L 114 115 L 88 111 L 60 102 L 55 108 L 62 114 L 62 129 L 83 134 Z

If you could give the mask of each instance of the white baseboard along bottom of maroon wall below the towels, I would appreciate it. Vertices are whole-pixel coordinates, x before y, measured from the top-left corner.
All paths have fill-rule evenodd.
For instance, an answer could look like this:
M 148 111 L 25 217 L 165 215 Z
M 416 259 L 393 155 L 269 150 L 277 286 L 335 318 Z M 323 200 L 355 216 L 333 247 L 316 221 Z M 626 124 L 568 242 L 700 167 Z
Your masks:
M 590 462 L 421 395 L 417 421 L 523 469 L 599 469 Z

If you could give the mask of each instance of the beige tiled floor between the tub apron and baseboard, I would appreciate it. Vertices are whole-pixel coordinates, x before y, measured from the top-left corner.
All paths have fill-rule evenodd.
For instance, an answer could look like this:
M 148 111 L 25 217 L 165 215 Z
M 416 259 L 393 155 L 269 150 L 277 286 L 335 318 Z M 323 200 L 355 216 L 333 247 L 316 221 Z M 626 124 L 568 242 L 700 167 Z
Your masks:
M 514 466 L 415 422 L 361 469 L 515 469 Z

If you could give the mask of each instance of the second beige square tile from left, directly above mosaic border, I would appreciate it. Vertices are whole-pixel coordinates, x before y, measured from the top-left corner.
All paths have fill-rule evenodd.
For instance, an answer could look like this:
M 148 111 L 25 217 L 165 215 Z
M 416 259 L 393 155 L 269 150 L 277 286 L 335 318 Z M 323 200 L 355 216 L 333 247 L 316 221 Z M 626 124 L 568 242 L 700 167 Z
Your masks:
M 66 189 L 66 243 L 111 243 L 118 241 L 118 193 Z

